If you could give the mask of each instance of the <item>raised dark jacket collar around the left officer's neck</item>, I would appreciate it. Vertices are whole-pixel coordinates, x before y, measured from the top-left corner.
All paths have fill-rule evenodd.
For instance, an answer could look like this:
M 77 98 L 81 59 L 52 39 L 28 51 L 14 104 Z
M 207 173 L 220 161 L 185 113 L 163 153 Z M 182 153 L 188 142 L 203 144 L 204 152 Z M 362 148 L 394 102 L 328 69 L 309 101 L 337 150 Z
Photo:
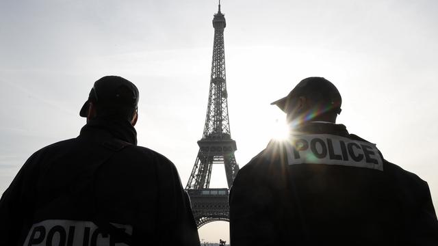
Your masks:
M 127 120 L 89 120 L 81 128 L 80 135 L 104 131 L 117 139 L 137 145 L 137 131 Z

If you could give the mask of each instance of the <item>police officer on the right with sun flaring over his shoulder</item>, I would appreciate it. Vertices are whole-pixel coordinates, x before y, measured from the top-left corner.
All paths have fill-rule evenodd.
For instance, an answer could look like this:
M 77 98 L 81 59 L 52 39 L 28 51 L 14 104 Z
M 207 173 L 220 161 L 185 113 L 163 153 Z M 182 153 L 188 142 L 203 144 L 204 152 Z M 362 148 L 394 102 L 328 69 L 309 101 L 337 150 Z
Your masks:
M 341 102 L 320 77 L 272 102 L 287 113 L 291 135 L 270 141 L 237 174 L 233 246 L 438 245 L 427 183 L 335 124 Z

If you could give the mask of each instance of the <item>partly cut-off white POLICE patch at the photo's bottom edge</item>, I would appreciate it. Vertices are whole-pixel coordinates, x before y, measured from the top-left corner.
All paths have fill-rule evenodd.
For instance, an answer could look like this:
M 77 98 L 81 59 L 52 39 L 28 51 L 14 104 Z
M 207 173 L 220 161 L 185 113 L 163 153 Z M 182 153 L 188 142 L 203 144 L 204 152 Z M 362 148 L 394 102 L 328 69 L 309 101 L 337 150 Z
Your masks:
M 132 226 L 112 223 L 113 226 L 132 235 Z M 23 246 L 125 246 L 103 233 L 91 221 L 48 219 L 34 224 Z

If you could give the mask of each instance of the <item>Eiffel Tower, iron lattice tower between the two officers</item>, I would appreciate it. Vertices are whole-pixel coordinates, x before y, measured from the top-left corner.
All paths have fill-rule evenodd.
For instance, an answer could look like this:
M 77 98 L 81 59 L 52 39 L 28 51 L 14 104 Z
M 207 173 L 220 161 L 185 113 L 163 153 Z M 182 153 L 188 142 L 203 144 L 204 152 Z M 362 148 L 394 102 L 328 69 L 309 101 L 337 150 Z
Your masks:
M 192 174 L 185 189 L 192 201 L 196 226 L 211 221 L 229 221 L 228 194 L 239 171 L 234 152 L 235 141 L 231 139 L 228 117 L 227 80 L 225 78 L 224 14 L 214 14 L 214 45 L 211 61 L 210 90 L 203 137 L 198 141 L 199 151 Z M 228 188 L 210 189 L 211 167 L 224 165 Z

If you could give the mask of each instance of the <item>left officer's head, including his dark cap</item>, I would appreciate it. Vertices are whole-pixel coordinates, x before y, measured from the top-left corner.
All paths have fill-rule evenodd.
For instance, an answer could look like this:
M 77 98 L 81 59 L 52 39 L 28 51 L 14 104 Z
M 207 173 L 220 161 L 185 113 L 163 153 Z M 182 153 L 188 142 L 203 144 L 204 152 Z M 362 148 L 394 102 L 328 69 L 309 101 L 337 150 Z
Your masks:
M 118 76 L 105 76 L 94 82 L 88 100 L 79 115 L 87 120 L 128 120 L 134 126 L 138 118 L 138 89 Z

